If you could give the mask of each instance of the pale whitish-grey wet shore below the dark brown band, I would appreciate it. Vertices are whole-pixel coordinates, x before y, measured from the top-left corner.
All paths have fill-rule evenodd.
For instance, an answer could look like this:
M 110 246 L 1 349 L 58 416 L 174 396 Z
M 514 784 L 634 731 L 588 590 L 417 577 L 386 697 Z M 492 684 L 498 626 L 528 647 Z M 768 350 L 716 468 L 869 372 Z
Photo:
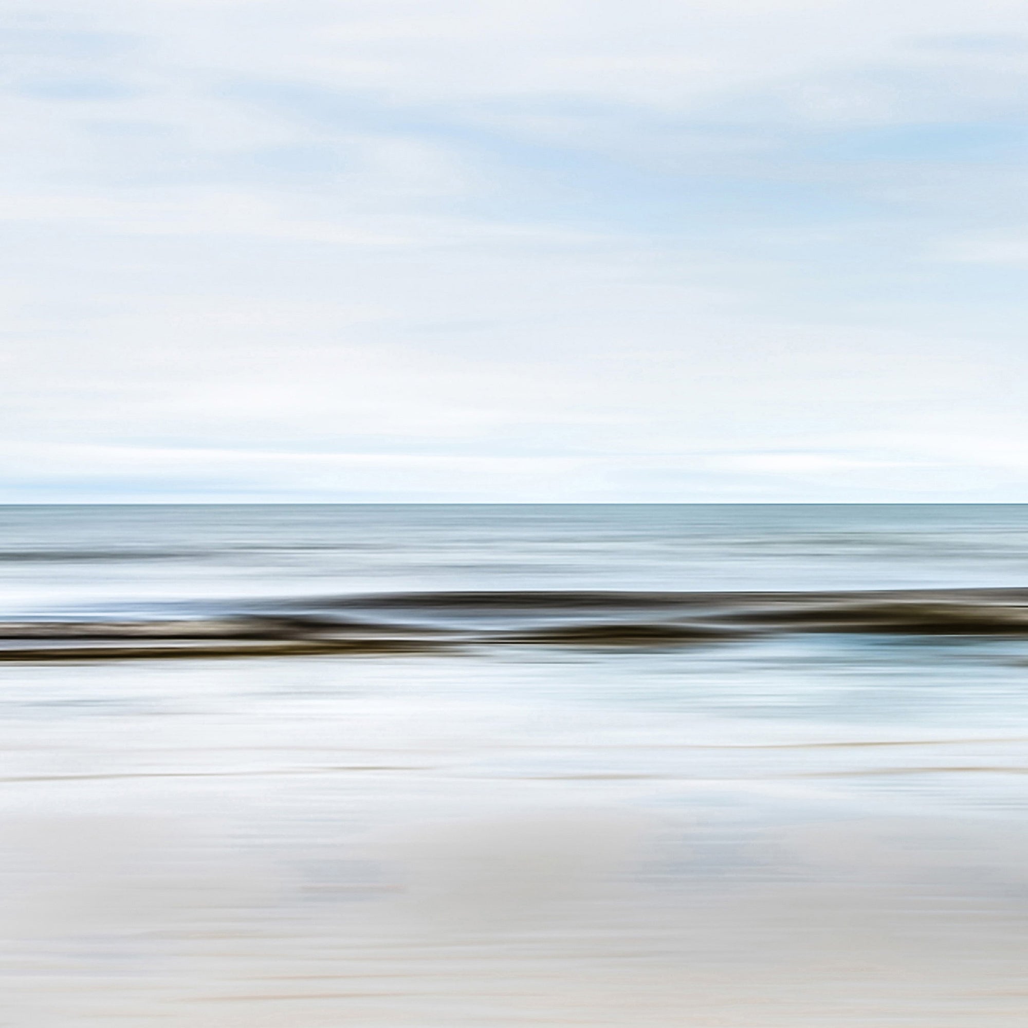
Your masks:
M 1023 672 L 813 642 L 9 666 L 0 1024 L 1020 1028 Z

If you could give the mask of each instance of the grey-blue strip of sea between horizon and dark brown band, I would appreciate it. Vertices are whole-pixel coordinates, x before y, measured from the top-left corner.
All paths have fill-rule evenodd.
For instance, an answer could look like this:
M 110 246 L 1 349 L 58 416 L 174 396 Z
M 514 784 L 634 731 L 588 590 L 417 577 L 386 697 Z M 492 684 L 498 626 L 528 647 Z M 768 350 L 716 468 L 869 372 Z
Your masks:
M 0 612 L 361 592 L 1028 585 L 1020 505 L 0 507 Z

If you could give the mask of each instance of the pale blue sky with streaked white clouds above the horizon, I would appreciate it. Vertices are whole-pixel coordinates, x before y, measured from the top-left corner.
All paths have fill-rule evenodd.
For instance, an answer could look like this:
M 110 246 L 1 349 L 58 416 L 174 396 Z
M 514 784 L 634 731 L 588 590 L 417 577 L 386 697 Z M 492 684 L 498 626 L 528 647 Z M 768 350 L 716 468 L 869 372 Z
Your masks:
M 1024 0 L 3 0 L 0 502 L 1028 502 Z

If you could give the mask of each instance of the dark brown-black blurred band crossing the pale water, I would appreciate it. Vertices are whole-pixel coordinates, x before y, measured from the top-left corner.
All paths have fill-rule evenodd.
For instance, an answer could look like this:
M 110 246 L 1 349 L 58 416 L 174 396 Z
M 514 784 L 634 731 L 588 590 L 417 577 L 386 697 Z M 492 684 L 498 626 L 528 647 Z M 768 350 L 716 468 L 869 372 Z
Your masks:
M 441 592 L 290 599 L 188 618 L 177 613 L 145 620 L 0 622 L 0 661 L 483 646 L 661 649 L 801 632 L 1028 637 L 1028 590 Z

